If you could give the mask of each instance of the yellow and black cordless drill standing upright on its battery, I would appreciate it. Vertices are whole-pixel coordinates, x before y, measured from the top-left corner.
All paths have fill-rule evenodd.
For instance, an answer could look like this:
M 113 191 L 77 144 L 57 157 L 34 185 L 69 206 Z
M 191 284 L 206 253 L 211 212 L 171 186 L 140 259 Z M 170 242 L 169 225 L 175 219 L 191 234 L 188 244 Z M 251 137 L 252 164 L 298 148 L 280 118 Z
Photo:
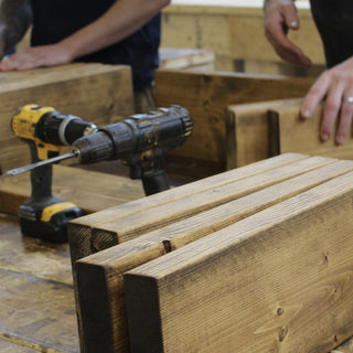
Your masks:
M 30 146 L 32 163 L 58 156 L 82 136 L 94 133 L 97 127 L 52 107 L 26 105 L 11 119 L 15 136 Z M 24 236 L 52 243 L 67 240 L 67 223 L 83 215 L 75 204 L 52 195 L 52 165 L 31 170 L 31 196 L 19 207 L 21 232 Z

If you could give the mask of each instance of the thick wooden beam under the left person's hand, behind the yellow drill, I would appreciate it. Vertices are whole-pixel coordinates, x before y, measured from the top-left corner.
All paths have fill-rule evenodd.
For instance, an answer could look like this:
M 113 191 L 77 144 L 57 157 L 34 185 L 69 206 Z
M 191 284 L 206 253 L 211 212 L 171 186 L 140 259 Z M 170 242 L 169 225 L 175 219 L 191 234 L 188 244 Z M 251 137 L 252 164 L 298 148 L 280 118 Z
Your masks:
M 124 87 L 124 89 L 119 89 Z M 128 66 L 69 64 L 25 72 L 0 73 L 1 169 L 30 161 L 29 147 L 18 139 L 10 119 L 28 104 L 54 107 L 98 126 L 133 113 L 132 85 Z

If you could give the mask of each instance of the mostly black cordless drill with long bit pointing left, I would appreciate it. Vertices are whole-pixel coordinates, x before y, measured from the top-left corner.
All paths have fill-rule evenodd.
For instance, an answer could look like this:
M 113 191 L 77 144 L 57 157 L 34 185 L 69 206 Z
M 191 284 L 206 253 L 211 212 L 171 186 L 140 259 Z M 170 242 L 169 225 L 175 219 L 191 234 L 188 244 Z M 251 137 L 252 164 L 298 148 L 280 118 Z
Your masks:
M 62 115 L 64 116 L 64 115 Z M 72 152 L 40 162 L 41 165 L 74 158 L 77 163 L 121 160 L 131 179 L 141 179 L 146 195 L 170 188 L 164 171 L 165 153 L 181 147 L 193 131 L 193 119 L 181 106 L 158 108 L 105 126 L 73 142 Z M 15 175 L 38 168 L 38 163 L 8 171 Z

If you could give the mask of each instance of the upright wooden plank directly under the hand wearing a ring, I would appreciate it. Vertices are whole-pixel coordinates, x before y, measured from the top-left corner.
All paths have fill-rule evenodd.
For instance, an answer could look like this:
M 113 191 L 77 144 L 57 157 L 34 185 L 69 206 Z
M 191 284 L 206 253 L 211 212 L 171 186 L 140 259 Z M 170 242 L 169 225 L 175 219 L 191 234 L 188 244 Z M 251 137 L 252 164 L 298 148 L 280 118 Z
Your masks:
M 300 117 L 301 104 L 302 100 L 298 99 L 293 104 L 269 110 L 269 140 L 278 142 L 269 145 L 269 156 L 291 151 L 352 159 L 352 137 L 349 137 L 345 143 L 336 145 L 334 131 L 331 138 L 323 142 L 319 135 L 323 107 L 318 107 L 310 119 L 303 120 Z

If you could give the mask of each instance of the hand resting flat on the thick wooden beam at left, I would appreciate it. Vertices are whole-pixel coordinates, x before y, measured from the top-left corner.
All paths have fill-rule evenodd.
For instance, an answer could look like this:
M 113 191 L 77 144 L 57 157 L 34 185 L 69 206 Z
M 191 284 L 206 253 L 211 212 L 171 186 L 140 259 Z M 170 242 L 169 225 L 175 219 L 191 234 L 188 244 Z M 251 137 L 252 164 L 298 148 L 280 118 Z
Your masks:
M 68 64 L 73 60 L 61 44 L 33 46 L 4 57 L 0 71 L 24 71 L 42 66 Z

